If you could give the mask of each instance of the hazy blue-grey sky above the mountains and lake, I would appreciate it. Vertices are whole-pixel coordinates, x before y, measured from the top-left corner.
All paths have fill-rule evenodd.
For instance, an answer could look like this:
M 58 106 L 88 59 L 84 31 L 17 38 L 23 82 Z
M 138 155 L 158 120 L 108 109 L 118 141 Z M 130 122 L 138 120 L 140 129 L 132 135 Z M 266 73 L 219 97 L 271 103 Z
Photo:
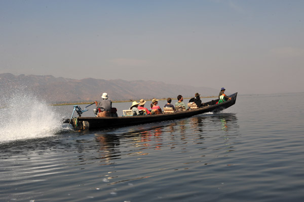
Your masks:
M 0 73 L 302 92 L 304 1 L 0 0 Z

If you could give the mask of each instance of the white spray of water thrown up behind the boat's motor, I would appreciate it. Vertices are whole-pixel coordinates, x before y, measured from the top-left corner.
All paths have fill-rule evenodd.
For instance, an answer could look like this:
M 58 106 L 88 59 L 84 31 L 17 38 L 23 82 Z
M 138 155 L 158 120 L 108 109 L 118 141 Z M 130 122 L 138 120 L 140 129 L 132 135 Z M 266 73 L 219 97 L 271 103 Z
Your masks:
M 0 109 L 0 143 L 52 136 L 61 130 L 60 122 L 60 115 L 44 100 L 16 93 Z

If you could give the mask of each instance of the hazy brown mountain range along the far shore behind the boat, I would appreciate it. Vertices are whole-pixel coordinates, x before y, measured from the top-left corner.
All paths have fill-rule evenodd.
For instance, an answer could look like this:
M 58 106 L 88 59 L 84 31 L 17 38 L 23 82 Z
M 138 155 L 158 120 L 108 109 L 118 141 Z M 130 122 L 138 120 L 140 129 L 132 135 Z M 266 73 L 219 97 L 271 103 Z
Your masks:
M 43 98 L 47 103 L 78 103 L 100 100 L 101 94 L 107 92 L 111 100 L 139 100 L 172 97 L 178 94 L 193 97 L 196 92 L 201 96 L 217 95 L 219 90 L 209 87 L 174 85 L 156 81 L 125 81 L 121 79 L 104 80 L 85 78 L 69 79 L 52 75 L 15 76 L 10 73 L 0 74 L 0 91 L 2 97 L 10 97 L 16 90 L 31 92 Z

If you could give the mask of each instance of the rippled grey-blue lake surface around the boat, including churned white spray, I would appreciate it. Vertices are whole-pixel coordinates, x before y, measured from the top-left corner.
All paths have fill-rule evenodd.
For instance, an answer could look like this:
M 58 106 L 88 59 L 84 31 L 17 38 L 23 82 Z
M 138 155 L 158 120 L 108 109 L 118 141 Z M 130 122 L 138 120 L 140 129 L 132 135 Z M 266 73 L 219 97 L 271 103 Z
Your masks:
M 0 201 L 303 201 L 303 99 L 239 94 L 220 114 L 74 132 L 72 106 L 25 98 L 25 117 L 1 111 Z

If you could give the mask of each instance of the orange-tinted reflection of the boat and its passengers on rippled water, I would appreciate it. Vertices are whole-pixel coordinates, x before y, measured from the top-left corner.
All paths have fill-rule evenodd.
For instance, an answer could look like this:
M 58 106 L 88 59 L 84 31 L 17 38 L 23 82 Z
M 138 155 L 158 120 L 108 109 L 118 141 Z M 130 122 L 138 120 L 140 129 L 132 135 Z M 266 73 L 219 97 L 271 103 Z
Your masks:
M 122 147 L 129 148 L 129 155 L 148 155 L 142 149 L 160 150 L 166 146 L 174 149 L 176 146 L 186 147 L 189 143 L 203 144 L 212 131 L 223 131 L 220 137 L 227 142 L 232 135 L 230 131 L 238 127 L 235 114 L 210 114 L 95 133 L 95 141 L 99 144 L 100 159 L 109 164 L 111 159 L 121 158 Z

